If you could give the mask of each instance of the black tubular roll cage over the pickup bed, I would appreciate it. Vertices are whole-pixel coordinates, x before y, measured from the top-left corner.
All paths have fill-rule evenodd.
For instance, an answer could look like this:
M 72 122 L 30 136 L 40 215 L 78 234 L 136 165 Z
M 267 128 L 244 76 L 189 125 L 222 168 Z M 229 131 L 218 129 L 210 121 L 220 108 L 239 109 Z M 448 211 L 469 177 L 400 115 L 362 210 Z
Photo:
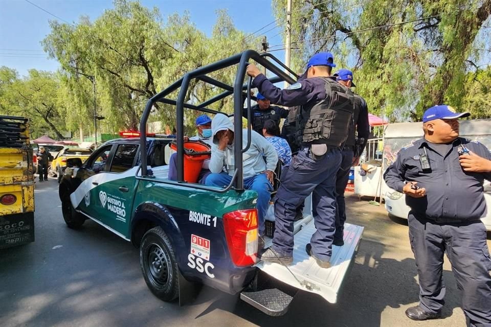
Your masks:
M 245 69 L 249 64 L 248 61 L 250 59 L 253 59 L 258 64 L 268 69 L 270 72 L 274 73 L 276 76 L 269 79 L 272 83 L 286 81 L 290 84 L 294 84 L 296 82 L 296 79 L 293 79 L 288 74 L 283 72 L 282 68 L 276 66 L 271 61 L 267 60 L 267 58 L 270 58 L 272 61 L 275 61 L 282 68 L 287 69 L 287 71 L 293 76 L 295 76 L 296 79 L 298 78 L 298 75 L 295 72 L 293 72 L 292 69 L 287 67 L 275 56 L 269 53 L 259 54 L 254 50 L 246 50 L 242 53 L 236 54 L 227 59 L 222 59 L 212 64 L 209 64 L 207 66 L 196 68 L 194 69 L 194 71 L 187 73 L 182 78 L 180 78 L 179 80 L 175 81 L 170 86 L 168 86 L 166 89 L 164 89 L 163 91 L 159 92 L 157 95 L 154 95 L 152 98 L 150 98 L 145 106 L 145 110 L 143 111 L 142 119 L 140 121 L 140 131 L 141 131 L 140 153 L 142 155 L 141 155 L 141 166 L 139 171 L 141 171 L 141 177 L 138 176 L 137 173 L 137 178 L 154 181 L 154 179 L 150 179 L 153 176 L 151 175 L 151 173 L 149 174 L 149 170 L 147 167 L 147 156 L 145 155 L 147 153 L 147 142 L 146 142 L 145 131 L 146 131 L 148 116 L 150 115 L 150 111 L 152 110 L 153 105 L 157 102 L 161 102 L 161 103 L 176 106 L 176 133 L 177 133 L 176 135 L 177 181 L 165 180 L 162 182 L 174 184 L 174 185 L 180 185 L 180 186 L 189 186 L 194 189 L 208 190 L 208 191 L 219 192 L 219 193 L 227 192 L 230 189 L 232 189 L 232 187 L 235 190 L 243 190 L 244 181 L 243 181 L 242 153 L 247 151 L 251 145 L 250 122 L 252 121 L 251 94 L 250 94 L 252 78 L 249 78 L 248 83 L 244 84 Z M 233 86 L 217 81 L 216 79 L 207 76 L 207 74 L 219 71 L 220 69 L 224 69 L 236 64 L 238 64 L 238 68 L 237 68 L 237 74 L 235 76 L 235 82 Z M 192 79 L 197 79 L 205 83 L 209 83 L 211 85 L 217 86 L 221 89 L 224 89 L 224 92 L 199 105 L 192 105 L 189 103 L 185 103 L 184 100 L 188 92 L 189 83 Z M 173 91 L 175 91 L 178 88 L 180 88 L 180 90 L 177 96 L 177 101 L 166 98 L 169 94 L 171 94 Z M 184 108 L 198 110 L 198 111 L 212 113 L 212 114 L 217 114 L 217 113 L 226 114 L 225 112 L 209 109 L 207 108 L 207 106 L 221 99 L 224 99 L 230 95 L 233 95 L 234 112 L 231 115 L 234 116 L 234 126 L 237 126 L 236 131 L 239 131 L 242 129 L 242 109 L 243 109 L 242 107 L 243 107 L 244 90 L 247 90 L 247 112 L 248 112 L 247 146 L 244 149 L 242 149 L 242 133 L 236 132 L 234 135 L 234 156 L 235 156 L 236 165 L 235 165 L 235 171 L 232 177 L 232 181 L 225 189 L 211 188 L 205 185 L 199 185 L 194 183 L 189 184 L 184 182 Z

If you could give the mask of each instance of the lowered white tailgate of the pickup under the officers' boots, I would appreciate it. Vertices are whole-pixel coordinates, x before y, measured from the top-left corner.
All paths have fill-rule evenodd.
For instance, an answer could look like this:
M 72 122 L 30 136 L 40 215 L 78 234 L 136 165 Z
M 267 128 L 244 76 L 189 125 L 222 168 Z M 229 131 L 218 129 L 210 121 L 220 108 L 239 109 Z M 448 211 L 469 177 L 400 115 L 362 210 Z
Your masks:
M 316 231 L 314 220 L 296 226 L 293 264 L 286 268 L 277 263 L 259 262 L 256 266 L 279 281 L 300 290 L 321 295 L 328 302 L 336 303 L 356 250 L 362 238 L 363 227 L 345 224 L 344 245 L 332 247 L 331 267 L 321 268 L 305 251 L 305 245 Z M 271 244 L 271 241 L 267 242 Z M 268 245 L 266 243 L 266 245 Z

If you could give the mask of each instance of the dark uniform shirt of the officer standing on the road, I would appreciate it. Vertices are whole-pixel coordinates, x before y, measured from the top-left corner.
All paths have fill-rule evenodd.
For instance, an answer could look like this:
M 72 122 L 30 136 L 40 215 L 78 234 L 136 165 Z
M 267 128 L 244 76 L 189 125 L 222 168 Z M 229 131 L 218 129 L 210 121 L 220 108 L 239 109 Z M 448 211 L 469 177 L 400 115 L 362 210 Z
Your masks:
M 407 181 L 418 182 L 426 189 L 426 196 L 406 196 L 411 211 L 429 219 L 478 220 L 486 213 L 484 202 L 484 179 L 491 180 L 491 173 L 464 172 L 459 162 L 459 148 L 467 148 L 478 156 L 491 160 L 491 153 L 482 144 L 458 137 L 450 151 L 441 155 L 432 143 L 421 138 L 397 154 L 396 161 L 384 173 L 387 185 L 403 192 Z M 431 170 L 423 171 L 420 154 L 428 155 Z M 438 148 L 441 150 L 441 147 Z

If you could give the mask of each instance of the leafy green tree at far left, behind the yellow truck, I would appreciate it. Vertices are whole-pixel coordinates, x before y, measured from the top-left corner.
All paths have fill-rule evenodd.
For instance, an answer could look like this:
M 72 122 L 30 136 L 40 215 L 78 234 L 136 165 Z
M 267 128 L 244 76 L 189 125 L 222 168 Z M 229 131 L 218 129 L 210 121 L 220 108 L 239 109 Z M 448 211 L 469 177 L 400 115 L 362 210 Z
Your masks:
M 19 79 L 12 69 L 0 69 L 0 109 L 9 115 L 25 116 L 31 120 L 34 135 L 50 129 L 62 139 L 63 126 L 57 97 L 59 81 L 55 74 L 30 69 L 26 78 Z

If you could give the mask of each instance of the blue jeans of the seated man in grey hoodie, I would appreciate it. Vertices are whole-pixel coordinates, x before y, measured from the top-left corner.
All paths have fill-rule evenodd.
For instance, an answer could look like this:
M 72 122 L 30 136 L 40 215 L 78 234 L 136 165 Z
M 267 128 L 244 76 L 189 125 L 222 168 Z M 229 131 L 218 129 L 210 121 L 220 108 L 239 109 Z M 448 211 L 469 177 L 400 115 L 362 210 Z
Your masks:
M 222 172 L 219 174 L 210 174 L 206 177 L 205 184 L 208 186 L 218 186 L 224 188 L 232 180 L 232 176 Z M 257 218 L 259 221 L 259 235 L 264 235 L 264 216 L 266 215 L 267 205 L 270 203 L 271 186 L 267 180 L 266 174 L 258 174 L 253 177 L 244 178 L 244 188 L 246 190 L 254 190 L 257 192 Z

